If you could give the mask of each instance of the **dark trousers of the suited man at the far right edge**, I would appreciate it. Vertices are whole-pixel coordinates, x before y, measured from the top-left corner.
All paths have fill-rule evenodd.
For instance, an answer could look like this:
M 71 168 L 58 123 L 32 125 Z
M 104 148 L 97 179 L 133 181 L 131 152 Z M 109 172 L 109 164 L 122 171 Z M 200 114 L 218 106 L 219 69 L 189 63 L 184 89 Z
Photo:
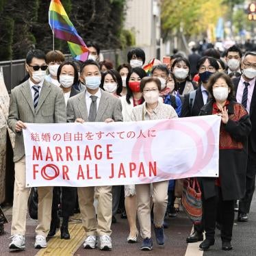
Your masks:
M 239 201 L 239 213 L 248 214 L 248 212 L 250 212 L 251 201 L 253 200 L 253 193 L 255 190 L 255 173 L 256 161 L 252 157 L 248 156 L 246 170 L 246 192 L 244 198 Z

